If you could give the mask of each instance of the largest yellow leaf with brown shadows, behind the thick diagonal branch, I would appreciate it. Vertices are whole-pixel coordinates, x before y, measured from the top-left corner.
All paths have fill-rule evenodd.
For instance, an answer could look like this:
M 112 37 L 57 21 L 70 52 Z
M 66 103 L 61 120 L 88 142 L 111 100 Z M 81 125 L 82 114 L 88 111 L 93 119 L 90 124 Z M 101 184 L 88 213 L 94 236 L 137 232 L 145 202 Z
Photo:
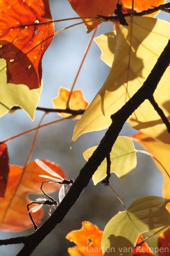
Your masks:
M 72 141 L 83 133 L 109 127 L 110 116 L 141 88 L 170 38 L 170 24 L 166 21 L 134 17 L 131 24 L 130 18 L 126 19 L 129 26 L 116 25 L 116 47 L 111 72 L 75 125 Z M 105 44 L 105 47 L 108 51 L 109 44 Z M 111 63 L 111 60 L 107 62 Z M 167 68 L 154 93 L 155 100 L 166 116 L 170 113 L 169 71 L 170 68 Z M 130 116 L 128 123 L 145 134 L 170 143 L 165 125 L 148 100 Z

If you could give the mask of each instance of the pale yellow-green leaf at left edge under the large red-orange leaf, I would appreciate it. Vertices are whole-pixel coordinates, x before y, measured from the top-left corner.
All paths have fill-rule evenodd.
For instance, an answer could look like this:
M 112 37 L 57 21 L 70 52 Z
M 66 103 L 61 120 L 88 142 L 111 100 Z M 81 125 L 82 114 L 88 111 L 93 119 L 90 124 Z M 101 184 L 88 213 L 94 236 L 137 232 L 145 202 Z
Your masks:
M 6 81 L 6 61 L 0 59 L 0 116 L 8 113 L 10 109 L 19 105 L 34 119 L 35 109 L 40 99 L 42 87 L 29 90 L 25 84 L 12 84 Z

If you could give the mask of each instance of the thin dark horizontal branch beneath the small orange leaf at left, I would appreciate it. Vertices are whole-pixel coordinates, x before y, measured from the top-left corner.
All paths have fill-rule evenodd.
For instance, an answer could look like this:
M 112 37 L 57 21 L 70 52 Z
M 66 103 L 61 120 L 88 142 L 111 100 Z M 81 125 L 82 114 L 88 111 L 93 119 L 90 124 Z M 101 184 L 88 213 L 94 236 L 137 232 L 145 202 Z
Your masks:
M 15 106 L 13 107 L 11 110 L 17 110 L 17 109 L 22 109 L 19 106 Z M 54 109 L 54 108 L 41 108 L 41 107 L 37 107 L 36 110 L 39 111 L 44 111 L 46 113 L 68 113 L 68 114 L 72 114 L 73 116 L 77 116 L 77 115 L 82 115 L 84 113 L 84 109 L 79 109 L 79 110 L 73 110 L 70 108 L 66 108 L 66 109 Z

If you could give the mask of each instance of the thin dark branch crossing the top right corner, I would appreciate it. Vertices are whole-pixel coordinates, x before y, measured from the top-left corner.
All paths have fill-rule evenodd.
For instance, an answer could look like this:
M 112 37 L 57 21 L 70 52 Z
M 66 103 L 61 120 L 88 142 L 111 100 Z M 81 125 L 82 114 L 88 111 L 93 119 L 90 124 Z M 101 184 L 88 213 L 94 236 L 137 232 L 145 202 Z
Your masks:
M 148 14 L 151 14 L 153 12 L 157 12 L 157 11 L 166 11 L 166 12 L 169 12 L 169 9 L 170 8 L 170 3 L 166 3 L 166 4 L 160 4 L 159 6 L 155 7 L 155 8 L 152 8 L 152 9 L 148 9 L 148 10 L 145 10 L 143 12 L 134 12 L 133 15 L 134 16 L 143 16 L 143 15 L 148 15 Z M 124 17 L 128 17 L 128 16 L 131 16 L 132 14 L 131 13 L 125 13 L 123 14 Z M 98 15 L 97 17 L 99 18 L 102 18 L 104 19 L 105 21 L 112 21 L 112 20 L 119 20 L 119 17 L 118 16 L 103 16 L 103 15 Z

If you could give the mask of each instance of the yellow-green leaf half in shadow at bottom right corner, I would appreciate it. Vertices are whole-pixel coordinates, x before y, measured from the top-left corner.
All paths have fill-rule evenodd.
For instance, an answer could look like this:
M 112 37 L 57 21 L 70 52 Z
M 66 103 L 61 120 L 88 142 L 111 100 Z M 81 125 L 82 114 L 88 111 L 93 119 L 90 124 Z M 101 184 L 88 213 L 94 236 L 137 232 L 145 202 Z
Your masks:
M 128 207 L 127 211 L 114 216 L 104 229 L 102 237 L 104 255 L 112 255 L 109 248 L 114 248 L 114 256 L 120 256 L 121 253 L 131 256 L 140 234 L 170 225 L 170 214 L 166 210 L 168 202 L 169 200 L 159 196 L 139 198 Z

